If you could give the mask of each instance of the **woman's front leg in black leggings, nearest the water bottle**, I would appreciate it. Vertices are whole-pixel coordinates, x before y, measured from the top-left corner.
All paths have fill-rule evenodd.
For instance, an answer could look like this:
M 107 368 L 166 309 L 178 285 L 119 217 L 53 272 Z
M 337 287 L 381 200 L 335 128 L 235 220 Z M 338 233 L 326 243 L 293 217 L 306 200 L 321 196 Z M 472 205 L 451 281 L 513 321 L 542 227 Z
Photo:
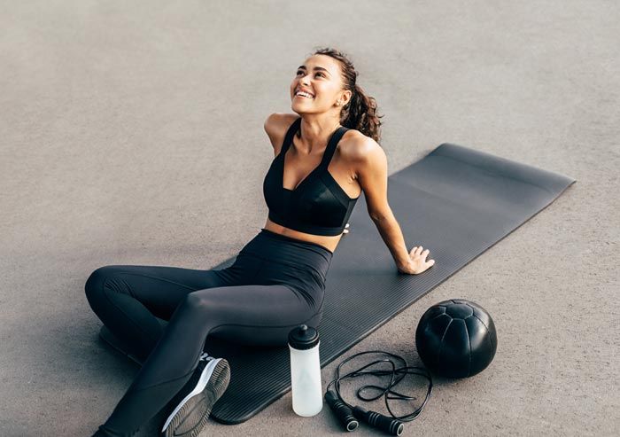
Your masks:
M 237 285 L 189 293 L 103 427 L 122 435 L 155 416 L 190 379 L 207 335 L 248 344 L 286 344 L 317 314 L 286 285 Z M 234 374 L 232 375 L 234 378 Z

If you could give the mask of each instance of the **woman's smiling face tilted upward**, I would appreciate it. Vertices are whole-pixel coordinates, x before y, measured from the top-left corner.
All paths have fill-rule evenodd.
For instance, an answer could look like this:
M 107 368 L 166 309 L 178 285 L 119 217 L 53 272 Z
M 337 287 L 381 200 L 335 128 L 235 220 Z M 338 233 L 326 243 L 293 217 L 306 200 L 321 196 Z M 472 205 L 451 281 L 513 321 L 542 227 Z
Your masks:
M 337 59 L 327 55 L 313 55 L 296 70 L 291 82 L 291 109 L 296 113 L 325 113 L 330 110 L 340 112 L 346 103 L 343 96 L 343 82 Z M 310 97 L 297 95 L 305 90 Z M 336 102 L 341 105 L 337 106 Z

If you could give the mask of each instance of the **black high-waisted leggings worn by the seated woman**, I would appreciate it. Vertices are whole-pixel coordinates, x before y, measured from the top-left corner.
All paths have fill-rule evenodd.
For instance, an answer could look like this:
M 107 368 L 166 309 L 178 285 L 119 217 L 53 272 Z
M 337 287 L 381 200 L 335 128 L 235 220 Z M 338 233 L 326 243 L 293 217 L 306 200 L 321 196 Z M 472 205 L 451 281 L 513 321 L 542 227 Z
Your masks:
M 322 246 L 263 229 L 226 269 L 95 270 L 85 285 L 90 307 L 143 361 L 102 430 L 130 435 L 164 408 L 208 352 L 207 335 L 284 346 L 298 324 L 318 326 L 331 257 Z M 155 316 L 169 323 L 162 327 Z

